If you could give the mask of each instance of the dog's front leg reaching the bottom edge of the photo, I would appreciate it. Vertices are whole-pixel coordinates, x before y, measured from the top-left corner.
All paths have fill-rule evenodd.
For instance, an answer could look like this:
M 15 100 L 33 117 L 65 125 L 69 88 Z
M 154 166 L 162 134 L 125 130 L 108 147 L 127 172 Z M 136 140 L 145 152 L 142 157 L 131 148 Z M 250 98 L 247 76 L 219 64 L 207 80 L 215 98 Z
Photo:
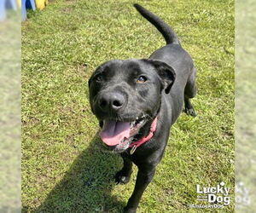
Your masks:
M 128 200 L 125 206 L 125 213 L 134 213 L 137 210 L 140 199 L 142 198 L 143 192 L 148 187 L 150 181 L 154 177 L 155 167 L 151 167 L 148 170 L 140 169 L 137 172 L 137 180 L 131 198 Z

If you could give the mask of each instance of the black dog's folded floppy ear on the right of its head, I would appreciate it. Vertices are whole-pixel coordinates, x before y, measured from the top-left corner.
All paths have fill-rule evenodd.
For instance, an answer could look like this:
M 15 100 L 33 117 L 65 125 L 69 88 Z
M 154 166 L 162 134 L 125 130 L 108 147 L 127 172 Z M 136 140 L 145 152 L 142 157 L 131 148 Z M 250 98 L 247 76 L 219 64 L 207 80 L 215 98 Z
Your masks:
M 160 60 L 148 60 L 157 70 L 161 81 L 163 83 L 166 94 L 168 94 L 172 88 L 172 84 L 175 81 L 176 73 L 172 66 L 167 65 Z

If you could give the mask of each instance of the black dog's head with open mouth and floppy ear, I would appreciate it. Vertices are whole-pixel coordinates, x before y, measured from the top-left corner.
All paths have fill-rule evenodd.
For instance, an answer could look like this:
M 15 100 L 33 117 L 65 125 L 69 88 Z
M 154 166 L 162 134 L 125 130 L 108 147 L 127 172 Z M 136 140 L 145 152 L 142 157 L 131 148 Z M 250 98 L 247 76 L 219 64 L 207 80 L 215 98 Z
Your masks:
M 170 92 L 174 79 L 172 67 L 158 60 L 110 60 L 99 66 L 89 89 L 102 141 L 120 153 L 148 134 L 143 129 L 156 117 L 161 93 Z

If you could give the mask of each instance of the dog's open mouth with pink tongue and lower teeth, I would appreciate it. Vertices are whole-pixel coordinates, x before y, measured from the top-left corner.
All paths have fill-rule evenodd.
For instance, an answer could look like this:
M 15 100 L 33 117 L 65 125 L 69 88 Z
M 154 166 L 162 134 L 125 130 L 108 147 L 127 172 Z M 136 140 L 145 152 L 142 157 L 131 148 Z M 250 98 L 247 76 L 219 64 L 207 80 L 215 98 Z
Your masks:
M 124 144 L 126 147 L 129 143 L 129 138 L 136 135 L 138 130 L 145 123 L 145 118 L 145 116 L 142 116 L 132 122 L 104 120 L 102 131 L 100 132 L 102 141 L 108 146 Z

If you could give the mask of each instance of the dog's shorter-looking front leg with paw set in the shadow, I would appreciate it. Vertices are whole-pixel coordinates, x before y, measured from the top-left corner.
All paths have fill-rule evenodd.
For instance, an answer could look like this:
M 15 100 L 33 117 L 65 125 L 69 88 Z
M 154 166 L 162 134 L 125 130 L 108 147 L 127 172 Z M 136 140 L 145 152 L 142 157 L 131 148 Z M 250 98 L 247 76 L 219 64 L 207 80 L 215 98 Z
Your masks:
M 132 172 L 131 160 L 129 158 L 125 158 L 124 156 L 122 156 L 122 158 L 124 160 L 124 166 L 122 170 L 119 170 L 119 172 L 117 172 L 116 175 L 114 176 L 115 182 L 117 184 L 126 184 L 127 182 L 129 182 L 131 172 Z

